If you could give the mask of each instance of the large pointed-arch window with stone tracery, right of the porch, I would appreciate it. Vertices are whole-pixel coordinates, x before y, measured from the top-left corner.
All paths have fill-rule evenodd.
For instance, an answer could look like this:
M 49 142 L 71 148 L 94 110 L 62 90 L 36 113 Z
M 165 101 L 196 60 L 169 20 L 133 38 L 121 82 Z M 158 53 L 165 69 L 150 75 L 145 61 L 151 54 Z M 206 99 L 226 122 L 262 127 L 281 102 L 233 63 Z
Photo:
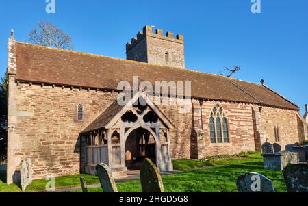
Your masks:
M 211 143 L 229 143 L 228 121 L 224 110 L 217 104 L 209 118 L 209 136 Z

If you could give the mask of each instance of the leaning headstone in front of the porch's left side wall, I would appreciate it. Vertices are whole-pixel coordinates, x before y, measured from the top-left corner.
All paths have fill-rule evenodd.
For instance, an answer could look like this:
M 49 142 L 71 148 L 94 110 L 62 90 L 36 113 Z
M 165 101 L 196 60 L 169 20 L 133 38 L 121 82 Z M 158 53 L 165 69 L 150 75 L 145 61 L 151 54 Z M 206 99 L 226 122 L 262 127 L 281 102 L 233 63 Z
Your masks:
M 101 188 L 103 192 L 118 192 L 118 188 L 116 188 L 116 182 L 112 177 L 112 172 L 110 168 L 101 163 L 95 166 L 95 170 L 97 170 L 97 176 L 99 176 L 99 182 L 101 183 Z

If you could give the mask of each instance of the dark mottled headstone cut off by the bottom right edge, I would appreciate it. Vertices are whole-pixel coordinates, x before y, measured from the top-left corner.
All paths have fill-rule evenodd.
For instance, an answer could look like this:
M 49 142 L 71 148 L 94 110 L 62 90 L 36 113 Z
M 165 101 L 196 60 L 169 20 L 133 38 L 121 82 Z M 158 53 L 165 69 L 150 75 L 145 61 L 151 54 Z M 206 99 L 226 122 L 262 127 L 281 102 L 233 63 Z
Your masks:
M 290 164 L 283 177 L 288 192 L 308 192 L 308 164 Z

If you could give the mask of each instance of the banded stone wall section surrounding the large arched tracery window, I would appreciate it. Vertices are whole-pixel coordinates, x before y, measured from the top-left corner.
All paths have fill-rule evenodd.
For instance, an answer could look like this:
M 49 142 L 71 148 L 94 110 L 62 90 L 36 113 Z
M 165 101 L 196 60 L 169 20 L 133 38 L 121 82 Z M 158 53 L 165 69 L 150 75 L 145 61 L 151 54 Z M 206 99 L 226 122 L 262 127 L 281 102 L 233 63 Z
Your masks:
M 209 118 L 215 105 L 222 107 L 228 121 L 229 143 L 211 143 Z M 241 151 L 255 151 L 252 108 L 250 104 L 205 101 L 202 104 L 202 127 L 200 103 L 194 101 L 194 125 L 196 131 L 202 129 L 203 137 L 196 137 L 198 151 L 195 157 L 208 155 L 232 155 Z M 199 132 L 200 133 L 200 132 Z

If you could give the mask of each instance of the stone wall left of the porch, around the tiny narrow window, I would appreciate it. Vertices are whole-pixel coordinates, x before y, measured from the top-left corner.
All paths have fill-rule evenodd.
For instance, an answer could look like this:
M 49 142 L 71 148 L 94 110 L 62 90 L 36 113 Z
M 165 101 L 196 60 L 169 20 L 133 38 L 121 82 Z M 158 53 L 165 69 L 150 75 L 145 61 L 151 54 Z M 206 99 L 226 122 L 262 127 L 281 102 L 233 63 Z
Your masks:
M 16 121 L 10 124 L 14 129 L 10 129 L 9 138 L 17 146 L 8 146 L 8 170 L 15 171 L 21 159 L 29 157 L 34 179 L 78 174 L 79 133 L 116 96 L 116 93 L 77 88 L 22 83 L 16 86 L 14 101 L 18 114 L 15 112 Z M 81 122 L 76 118 L 80 103 L 84 105 Z

